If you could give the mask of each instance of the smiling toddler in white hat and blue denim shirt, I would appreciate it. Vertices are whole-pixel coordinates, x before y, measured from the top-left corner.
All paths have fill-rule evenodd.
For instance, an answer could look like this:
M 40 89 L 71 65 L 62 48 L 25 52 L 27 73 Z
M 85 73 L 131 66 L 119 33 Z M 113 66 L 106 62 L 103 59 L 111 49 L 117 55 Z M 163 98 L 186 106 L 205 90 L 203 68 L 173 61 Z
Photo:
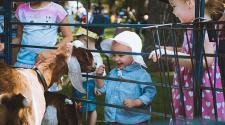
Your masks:
M 124 31 L 114 38 L 104 40 L 101 44 L 102 50 L 140 53 L 142 41 L 140 37 L 130 31 Z M 151 83 L 151 77 L 145 70 L 146 67 L 142 56 L 127 54 L 112 54 L 116 67 L 109 73 L 109 77 L 128 79 Z M 105 66 L 100 66 L 96 74 L 102 76 Z M 96 79 L 99 91 L 105 94 L 105 103 L 121 105 L 127 108 L 150 107 L 156 94 L 152 84 L 143 85 L 138 83 L 127 83 L 112 80 Z M 147 125 L 150 119 L 149 114 L 105 107 L 105 120 L 115 125 Z

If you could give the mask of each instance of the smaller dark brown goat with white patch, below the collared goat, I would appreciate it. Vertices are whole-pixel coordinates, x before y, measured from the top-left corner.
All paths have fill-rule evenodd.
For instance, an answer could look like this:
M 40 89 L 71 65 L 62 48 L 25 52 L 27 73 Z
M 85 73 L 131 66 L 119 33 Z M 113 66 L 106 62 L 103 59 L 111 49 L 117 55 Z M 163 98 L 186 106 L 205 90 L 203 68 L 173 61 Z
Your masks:
M 76 104 L 57 92 L 45 92 L 46 111 L 42 125 L 78 125 Z

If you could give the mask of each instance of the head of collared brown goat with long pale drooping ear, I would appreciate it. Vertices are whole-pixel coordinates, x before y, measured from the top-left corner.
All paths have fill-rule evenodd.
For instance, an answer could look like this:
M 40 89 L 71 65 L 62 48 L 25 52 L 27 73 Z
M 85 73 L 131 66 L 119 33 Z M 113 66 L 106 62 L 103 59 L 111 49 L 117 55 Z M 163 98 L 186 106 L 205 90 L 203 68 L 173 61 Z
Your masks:
M 72 85 L 81 92 L 84 92 L 81 71 L 91 72 L 95 69 L 91 52 L 84 48 L 76 48 L 71 43 L 60 43 L 56 50 L 41 52 L 35 65 L 49 72 L 46 73 L 49 75 L 46 77 L 50 77 L 51 83 L 56 82 L 63 74 L 68 74 Z

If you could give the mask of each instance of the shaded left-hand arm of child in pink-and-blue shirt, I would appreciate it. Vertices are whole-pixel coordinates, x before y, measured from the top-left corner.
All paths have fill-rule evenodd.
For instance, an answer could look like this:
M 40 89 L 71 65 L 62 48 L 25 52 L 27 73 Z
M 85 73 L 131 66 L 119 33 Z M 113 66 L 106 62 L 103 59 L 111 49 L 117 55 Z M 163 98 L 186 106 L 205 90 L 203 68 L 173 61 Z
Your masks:
M 20 44 L 22 41 L 22 36 L 23 36 L 23 26 L 18 24 L 16 25 L 16 37 L 12 39 L 12 43 L 14 44 Z

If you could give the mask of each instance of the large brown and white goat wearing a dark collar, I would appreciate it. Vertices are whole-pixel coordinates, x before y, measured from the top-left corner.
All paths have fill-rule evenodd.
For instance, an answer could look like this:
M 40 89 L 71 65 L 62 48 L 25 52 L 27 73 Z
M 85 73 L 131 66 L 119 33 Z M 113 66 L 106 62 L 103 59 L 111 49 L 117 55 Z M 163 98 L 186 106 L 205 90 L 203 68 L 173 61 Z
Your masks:
M 81 65 L 77 66 L 77 62 Z M 49 87 L 64 74 L 77 77 L 73 76 L 77 75 L 74 71 L 77 67 L 81 71 L 93 70 L 93 57 L 86 49 L 60 43 L 56 50 L 41 52 L 35 66 L 39 75 L 34 69 L 0 64 L 0 125 L 41 125 L 46 108 L 44 86 Z M 43 85 L 43 79 L 46 85 Z M 71 82 L 83 91 L 82 82 Z

